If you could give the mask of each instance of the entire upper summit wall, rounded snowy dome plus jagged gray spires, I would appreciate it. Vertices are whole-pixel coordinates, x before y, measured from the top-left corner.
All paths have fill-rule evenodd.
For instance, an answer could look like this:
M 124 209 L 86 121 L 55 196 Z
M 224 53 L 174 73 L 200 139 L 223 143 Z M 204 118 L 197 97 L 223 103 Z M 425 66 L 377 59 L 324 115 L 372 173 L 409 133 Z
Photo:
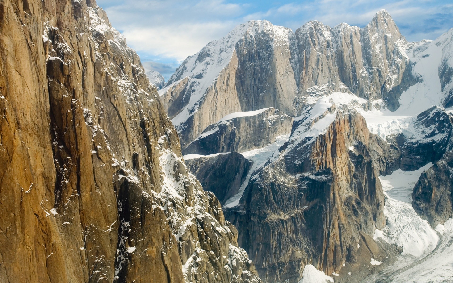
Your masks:
M 420 81 L 409 47 L 385 10 L 363 29 L 311 21 L 293 33 L 251 21 L 188 57 L 159 94 L 183 146 L 233 112 L 300 114 L 309 96 L 326 89 L 383 99 L 396 110 L 401 92 Z

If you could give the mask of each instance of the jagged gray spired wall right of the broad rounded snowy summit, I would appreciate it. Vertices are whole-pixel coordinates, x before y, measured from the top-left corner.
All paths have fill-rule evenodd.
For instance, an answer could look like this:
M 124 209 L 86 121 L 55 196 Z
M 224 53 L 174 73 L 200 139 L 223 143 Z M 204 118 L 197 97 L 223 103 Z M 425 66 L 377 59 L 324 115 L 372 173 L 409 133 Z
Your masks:
M 370 101 L 382 98 L 396 110 L 401 92 L 418 82 L 403 51 L 408 43 L 385 10 L 363 29 L 310 21 L 296 38 L 302 104 L 308 89 L 330 85 Z

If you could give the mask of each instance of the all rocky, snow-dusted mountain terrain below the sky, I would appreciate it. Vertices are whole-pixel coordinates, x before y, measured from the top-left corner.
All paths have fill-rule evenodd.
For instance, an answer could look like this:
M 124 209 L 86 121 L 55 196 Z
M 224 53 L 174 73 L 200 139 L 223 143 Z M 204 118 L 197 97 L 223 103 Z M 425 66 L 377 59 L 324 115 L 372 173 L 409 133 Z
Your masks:
M 0 1 L 0 282 L 453 282 L 453 29 L 252 20 L 165 82 Z

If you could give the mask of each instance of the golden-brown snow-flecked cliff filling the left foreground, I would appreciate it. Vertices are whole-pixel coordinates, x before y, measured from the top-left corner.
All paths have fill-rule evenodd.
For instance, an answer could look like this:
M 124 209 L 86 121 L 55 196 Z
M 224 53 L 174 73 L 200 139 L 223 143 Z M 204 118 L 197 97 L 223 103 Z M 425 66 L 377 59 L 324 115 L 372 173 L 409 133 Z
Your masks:
M 0 4 L 0 281 L 260 282 L 105 12 L 20 3 Z

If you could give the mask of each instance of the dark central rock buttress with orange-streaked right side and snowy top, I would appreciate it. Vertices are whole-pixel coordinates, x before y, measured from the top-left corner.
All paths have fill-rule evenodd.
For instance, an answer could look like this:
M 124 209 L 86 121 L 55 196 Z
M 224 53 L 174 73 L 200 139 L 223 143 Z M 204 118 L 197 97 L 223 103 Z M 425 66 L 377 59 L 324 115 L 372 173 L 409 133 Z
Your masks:
M 327 274 L 358 264 L 360 233 L 385 225 L 365 120 L 332 107 L 312 117 L 314 109 L 253 173 L 239 206 L 224 208 L 265 282 L 297 282 L 305 264 Z

